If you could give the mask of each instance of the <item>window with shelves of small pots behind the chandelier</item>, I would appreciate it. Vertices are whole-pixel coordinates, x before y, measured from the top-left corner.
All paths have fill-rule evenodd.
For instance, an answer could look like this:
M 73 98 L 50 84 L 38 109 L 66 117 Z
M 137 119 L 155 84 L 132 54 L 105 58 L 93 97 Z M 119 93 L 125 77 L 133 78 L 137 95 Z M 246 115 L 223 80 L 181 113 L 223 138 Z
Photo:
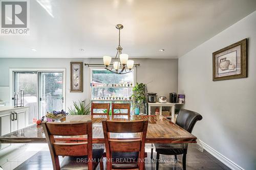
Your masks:
M 91 68 L 91 101 L 131 101 L 134 69 L 123 75 Z

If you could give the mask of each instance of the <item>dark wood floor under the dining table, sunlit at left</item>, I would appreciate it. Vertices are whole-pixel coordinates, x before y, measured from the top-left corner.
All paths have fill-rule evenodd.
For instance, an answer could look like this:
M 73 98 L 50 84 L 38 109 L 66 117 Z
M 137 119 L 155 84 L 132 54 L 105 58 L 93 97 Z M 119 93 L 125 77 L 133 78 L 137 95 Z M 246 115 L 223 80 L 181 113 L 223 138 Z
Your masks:
M 150 153 L 147 154 L 148 158 L 146 159 L 146 169 L 155 170 L 155 163 L 150 159 Z M 156 153 L 154 153 L 156 157 Z M 61 161 L 62 157 L 60 157 Z M 174 159 L 174 156 L 165 156 L 160 155 L 160 159 Z M 160 163 L 159 170 L 182 170 L 182 155 L 178 156 L 180 160 L 179 163 Z M 195 169 L 207 169 L 207 170 L 227 170 L 229 169 L 222 162 L 220 162 L 215 157 L 211 156 L 208 152 L 200 152 L 196 147 L 188 147 L 187 153 L 187 170 Z M 52 168 L 51 156 L 49 152 L 38 152 L 30 159 L 20 164 L 15 170 L 50 170 Z M 99 167 L 97 168 L 99 169 Z

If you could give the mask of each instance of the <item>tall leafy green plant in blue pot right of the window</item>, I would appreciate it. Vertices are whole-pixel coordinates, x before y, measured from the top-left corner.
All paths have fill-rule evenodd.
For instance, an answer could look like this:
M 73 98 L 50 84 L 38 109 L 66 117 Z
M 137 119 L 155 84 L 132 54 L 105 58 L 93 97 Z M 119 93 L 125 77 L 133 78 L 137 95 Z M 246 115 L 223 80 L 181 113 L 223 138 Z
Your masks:
M 136 83 L 133 88 L 132 98 L 135 101 L 135 114 L 145 113 L 146 84 Z

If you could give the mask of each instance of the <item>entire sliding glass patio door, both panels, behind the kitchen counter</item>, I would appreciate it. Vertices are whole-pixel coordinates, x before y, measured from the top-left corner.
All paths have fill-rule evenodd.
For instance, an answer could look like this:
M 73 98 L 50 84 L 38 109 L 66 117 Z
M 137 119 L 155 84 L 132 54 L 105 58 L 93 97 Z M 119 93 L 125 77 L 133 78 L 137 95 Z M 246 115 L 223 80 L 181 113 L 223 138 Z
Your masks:
M 53 110 L 65 109 L 63 71 L 13 71 L 13 94 L 24 90 L 29 125 Z

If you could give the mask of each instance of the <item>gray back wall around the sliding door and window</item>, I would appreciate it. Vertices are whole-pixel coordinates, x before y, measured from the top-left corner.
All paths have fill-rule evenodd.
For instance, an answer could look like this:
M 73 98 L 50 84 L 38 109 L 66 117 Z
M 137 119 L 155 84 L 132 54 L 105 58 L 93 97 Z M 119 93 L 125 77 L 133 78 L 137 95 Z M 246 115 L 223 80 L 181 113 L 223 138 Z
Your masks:
M 148 91 L 168 96 L 169 92 L 178 91 L 178 59 L 134 59 L 137 67 L 138 83 L 148 83 Z M 70 93 L 70 61 L 84 63 L 103 63 L 102 59 L 50 59 L 50 58 L 0 58 L 0 88 L 9 86 L 9 68 L 66 68 L 67 107 L 72 101 L 89 99 L 89 69 L 84 66 L 83 92 Z M 149 83 L 151 82 L 151 83 Z M 3 98 L 3 96 L 2 96 Z M 1 96 L 0 96 L 1 100 Z

